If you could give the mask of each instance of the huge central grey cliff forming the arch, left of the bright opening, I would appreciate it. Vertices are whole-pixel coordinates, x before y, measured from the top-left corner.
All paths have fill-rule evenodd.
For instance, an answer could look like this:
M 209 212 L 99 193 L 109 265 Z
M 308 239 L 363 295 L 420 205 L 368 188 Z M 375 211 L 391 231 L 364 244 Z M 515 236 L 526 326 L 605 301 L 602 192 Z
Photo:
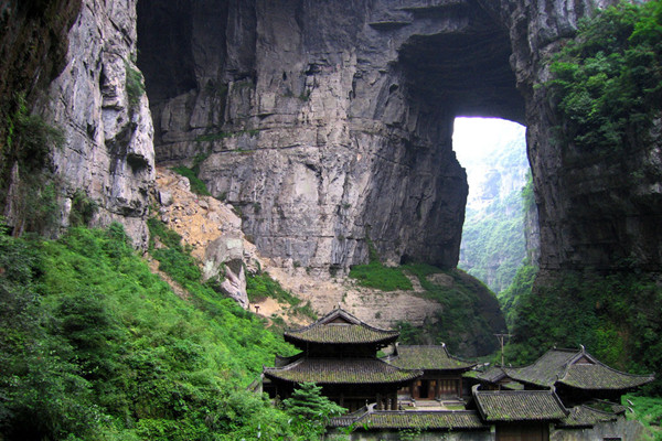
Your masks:
M 139 22 L 158 160 L 197 158 L 261 252 L 345 269 L 370 237 L 393 263 L 457 263 L 452 120 L 524 109 L 474 3 L 145 0 Z

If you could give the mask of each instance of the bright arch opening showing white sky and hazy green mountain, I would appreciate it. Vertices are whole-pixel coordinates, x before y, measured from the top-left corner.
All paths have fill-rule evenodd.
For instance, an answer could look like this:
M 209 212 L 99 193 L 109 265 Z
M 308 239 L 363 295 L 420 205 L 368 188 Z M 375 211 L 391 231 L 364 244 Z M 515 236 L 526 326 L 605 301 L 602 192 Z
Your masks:
M 494 292 L 510 286 L 525 256 L 525 131 L 496 118 L 455 120 L 453 151 L 469 183 L 458 266 Z

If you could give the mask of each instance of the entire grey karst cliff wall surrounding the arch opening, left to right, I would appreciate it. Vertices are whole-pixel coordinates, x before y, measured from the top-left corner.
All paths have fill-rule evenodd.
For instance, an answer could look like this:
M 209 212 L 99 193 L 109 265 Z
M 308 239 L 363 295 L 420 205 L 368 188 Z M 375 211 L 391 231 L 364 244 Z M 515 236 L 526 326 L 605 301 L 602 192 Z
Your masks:
M 371 243 L 391 262 L 455 266 L 467 183 L 452 121 L 524 122 L 541 267 L 652 271 L 659 133 L 618 163 L 569 151 L 552 141 L 537 87 L 578 20 L 611 2 L 83 0 L 35 103 L 65 129 L 54 153 L 65 202 L 85 190 L 99 223 L 122 219 L 145 244 L 156 153 L 196 165 L 263 254 L 320 270 L 364 262 Z M 136 47 L 151 119 L 147 99 L 127 94 Z

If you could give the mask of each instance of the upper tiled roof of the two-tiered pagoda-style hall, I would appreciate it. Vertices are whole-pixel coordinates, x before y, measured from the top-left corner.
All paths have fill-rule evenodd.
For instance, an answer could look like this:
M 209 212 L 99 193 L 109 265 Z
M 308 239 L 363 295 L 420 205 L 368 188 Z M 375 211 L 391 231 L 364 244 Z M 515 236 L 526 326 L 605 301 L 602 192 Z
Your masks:
M 298 329 L 286 331 L 287 342 L 297 343 L 383 343 L 395 342 L 397 331 L 382 330 L 371 326 L 356 319 L 349 312 L 337 309 L 317 322 Z

